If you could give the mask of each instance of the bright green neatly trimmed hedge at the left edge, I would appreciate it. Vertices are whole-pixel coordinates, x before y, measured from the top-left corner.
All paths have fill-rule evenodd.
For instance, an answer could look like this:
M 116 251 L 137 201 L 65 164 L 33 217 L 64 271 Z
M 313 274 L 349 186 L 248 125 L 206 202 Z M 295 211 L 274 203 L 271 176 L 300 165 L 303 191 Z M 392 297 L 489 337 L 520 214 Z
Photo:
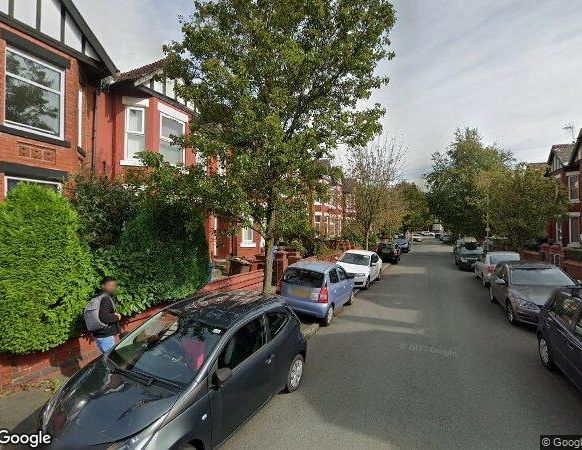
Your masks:
M 0 351 L 47 350 L 79 332 L 95 285 L 69 201 L 21 183 L 0 204 Z

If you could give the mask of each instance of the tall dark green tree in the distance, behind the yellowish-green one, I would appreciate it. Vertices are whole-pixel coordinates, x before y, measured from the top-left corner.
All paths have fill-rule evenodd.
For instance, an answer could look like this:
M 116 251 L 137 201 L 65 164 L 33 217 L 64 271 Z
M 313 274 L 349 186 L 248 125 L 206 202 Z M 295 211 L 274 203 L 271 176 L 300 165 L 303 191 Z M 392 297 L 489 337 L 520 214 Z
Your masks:
M 507 168 L 510 152 L 497 145 L 483 145 L 477 129 L 455 131 L 445 153 L 434 153 L 432 169 L 425 175 L 431 213 L 454 234 L 482 236 L 485 222 L 475 204 L 477 180 L 482 172 Z

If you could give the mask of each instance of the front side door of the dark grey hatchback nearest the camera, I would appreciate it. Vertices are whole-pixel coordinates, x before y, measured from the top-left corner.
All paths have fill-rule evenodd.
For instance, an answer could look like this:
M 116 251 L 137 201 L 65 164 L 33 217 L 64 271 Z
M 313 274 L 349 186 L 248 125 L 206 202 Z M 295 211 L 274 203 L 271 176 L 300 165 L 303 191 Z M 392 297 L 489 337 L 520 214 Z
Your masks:
M 231 336 L 216 368 L 228 367 L 232 376 L 210 391 L 212 442 L 222 443 L 272 395 L 274 356 L 266 344 L 264 322 L 257 317 Z

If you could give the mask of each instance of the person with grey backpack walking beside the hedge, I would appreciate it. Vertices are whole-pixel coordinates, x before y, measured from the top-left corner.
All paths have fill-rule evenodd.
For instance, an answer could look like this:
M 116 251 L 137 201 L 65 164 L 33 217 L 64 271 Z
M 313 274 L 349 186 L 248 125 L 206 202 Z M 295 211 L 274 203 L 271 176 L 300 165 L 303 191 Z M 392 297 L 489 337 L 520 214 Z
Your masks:
M 101 353 L 114 347 L 115 336 L 121 333 L 121 315 L 115 312 L 116 290 L 115 277 L 104 277 L 101 280 L 101 292 L 85 306 L 85 325 Z

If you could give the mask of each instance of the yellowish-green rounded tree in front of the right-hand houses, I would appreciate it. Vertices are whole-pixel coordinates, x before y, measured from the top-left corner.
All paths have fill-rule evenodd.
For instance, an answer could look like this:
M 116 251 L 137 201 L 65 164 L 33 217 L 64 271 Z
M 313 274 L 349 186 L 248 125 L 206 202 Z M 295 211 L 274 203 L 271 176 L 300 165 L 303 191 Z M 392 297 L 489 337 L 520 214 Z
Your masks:
M 568 195 L 562 183 L 546 177 L 545 169 L 518 165 L 481 175 L 478 189 L 481 215 L 489 213 L 492 230 L 507 237 L 515 250 L 545 234 L 546 226 L 568 210 Z M 488 201 L 486 201 L 486 199 Z

